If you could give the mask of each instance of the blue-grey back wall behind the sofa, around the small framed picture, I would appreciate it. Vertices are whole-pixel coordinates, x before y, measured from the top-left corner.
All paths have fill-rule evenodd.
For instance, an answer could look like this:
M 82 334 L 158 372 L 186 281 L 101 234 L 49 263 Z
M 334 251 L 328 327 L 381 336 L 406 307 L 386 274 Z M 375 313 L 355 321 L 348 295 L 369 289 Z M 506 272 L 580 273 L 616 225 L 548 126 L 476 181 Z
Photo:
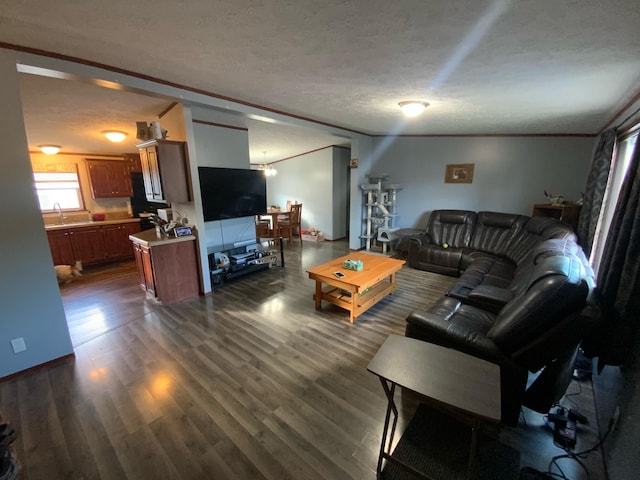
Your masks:
M 388 173 L 390 183 L 403 185 L 396 221 L 402 228 L 424 228 L 428 213 L 442 208 L 531 215 L 535 203 L 547 203 L 545 189 L 567 200 L 579 198 L 593 142 L 591 137 L 374 138 L 370 172 Z M 444 183 L 445 166 L 456 163 L 475 164 L 473 183 Z

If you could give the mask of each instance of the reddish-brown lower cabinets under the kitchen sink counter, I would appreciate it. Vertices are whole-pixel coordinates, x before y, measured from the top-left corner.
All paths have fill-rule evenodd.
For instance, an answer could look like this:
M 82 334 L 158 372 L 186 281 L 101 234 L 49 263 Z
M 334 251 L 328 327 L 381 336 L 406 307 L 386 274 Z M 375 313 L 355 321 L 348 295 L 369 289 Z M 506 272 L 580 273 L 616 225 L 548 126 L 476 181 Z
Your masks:
M 140 223 L 117 223 L 69 227 L 47 231 L 54 265 L 83 266 L 133 257 L 129 235 L 140 231 Z

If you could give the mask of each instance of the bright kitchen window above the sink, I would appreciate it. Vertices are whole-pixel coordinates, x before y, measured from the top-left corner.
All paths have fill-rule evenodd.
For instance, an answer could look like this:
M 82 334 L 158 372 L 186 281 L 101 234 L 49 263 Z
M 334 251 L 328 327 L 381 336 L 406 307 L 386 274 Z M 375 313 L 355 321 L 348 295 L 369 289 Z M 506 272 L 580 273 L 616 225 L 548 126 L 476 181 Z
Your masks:
M 53 212 L 54 204 L 62 210 L 84 210 L 78 172 L 34 172 L 40 210 Z

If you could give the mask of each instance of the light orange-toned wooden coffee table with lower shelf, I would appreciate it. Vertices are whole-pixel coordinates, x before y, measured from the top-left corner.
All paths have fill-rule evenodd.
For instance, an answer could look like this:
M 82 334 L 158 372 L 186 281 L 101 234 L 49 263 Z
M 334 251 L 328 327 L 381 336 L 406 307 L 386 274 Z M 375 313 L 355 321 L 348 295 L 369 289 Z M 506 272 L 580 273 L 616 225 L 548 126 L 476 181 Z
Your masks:
M 347 259 L 361 260 L 364 268 L 359 272 L 347 270 L 343 267 Z M 362 312 L 395 291 L 396 272 L 404 264 L 404 260 L 356 252 L 310 268 L 309 278 L 316 281 L 316 309 L 320 309 L 322 300 L 332 303 L 348 310 L 353 323 Z M 344 276 L 338 278 L 335 272 Z M 328 287 L 323 288 L 323 284 Z

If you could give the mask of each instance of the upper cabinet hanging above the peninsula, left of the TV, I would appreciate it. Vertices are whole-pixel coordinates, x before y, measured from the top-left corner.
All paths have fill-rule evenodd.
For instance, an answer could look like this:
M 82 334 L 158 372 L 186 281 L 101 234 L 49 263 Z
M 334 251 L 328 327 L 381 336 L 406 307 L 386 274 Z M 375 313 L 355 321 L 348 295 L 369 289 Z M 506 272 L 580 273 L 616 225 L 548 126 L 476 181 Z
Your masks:
M 185 142 L 151 140 L 138 145 L 138 149 L 147 200 L 190 202 Z

